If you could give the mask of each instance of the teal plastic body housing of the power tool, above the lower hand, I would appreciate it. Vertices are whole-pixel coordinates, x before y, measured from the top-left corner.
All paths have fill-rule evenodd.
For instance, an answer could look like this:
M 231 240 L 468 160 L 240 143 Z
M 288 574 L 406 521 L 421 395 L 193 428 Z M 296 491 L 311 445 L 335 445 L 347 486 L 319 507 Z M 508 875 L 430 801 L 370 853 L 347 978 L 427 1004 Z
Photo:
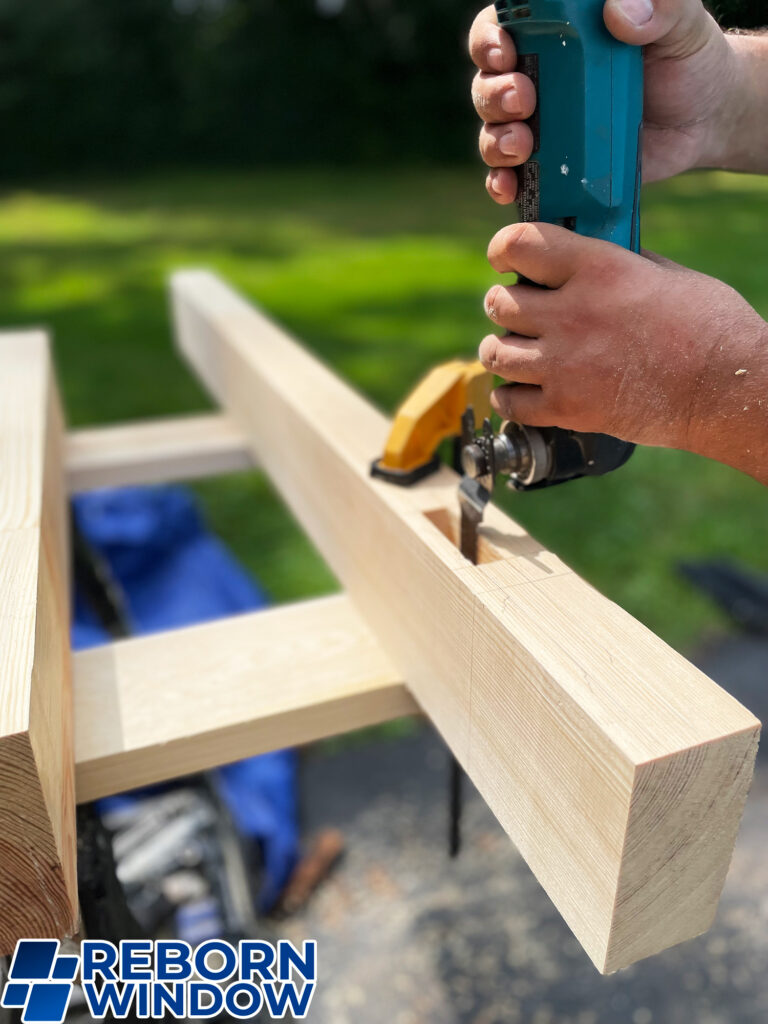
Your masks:
M 614 39 L 603 0 L 499 0 L 518 71 L 537 87 L 535 150 L 520 169 L 520 219 L 640 249 L 643 65 Z

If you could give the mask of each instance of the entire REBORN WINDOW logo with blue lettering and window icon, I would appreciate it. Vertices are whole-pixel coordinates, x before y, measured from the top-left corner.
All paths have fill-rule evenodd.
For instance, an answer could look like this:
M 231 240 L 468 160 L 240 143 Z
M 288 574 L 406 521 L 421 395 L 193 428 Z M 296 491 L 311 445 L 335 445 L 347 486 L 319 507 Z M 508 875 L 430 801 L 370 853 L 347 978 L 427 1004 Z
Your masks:
M 22 1011 L 22 1024 L 62 1024 L 75 987 L 92 1018 L 206 1020 L 225 1013 L 249 1020 L 261 1011 L 303 1020 L 317 980 L 317 943 L 299 949 L 243 939 L 210 939 L 193 948 L 175 939 L 85 939 L 79 955 L 59 953 L 55 939 L 22 939 L 0 1007 Z

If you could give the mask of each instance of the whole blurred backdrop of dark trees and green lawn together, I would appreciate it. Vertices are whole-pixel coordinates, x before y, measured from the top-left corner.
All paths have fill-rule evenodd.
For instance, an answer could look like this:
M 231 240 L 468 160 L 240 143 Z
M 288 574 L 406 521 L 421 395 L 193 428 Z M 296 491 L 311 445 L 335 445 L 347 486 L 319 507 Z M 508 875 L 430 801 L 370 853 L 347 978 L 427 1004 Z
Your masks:
M 758 25 L 763 0 L 721 0 Z M 53 331 L 73 425 L 206 408 L 165 281 L 215 268 L 394 410 L 487 330 L 484 253 L 509 211 L 472 162 L 466 0 L 0 0 L 0 324 Z M 169 170 L 169 168 L 174 168 Z M 768 181 L 646 189 L 646 246 L 768 315 Z M 372 457 L 376 453 L 371 453 Z M 198 485 L 275 600 L 335 587 L 258 474 Z M 764 489 L 682 453 L 501 499 L 672 643 L 717 613 L 678 561 L 768 569 Z

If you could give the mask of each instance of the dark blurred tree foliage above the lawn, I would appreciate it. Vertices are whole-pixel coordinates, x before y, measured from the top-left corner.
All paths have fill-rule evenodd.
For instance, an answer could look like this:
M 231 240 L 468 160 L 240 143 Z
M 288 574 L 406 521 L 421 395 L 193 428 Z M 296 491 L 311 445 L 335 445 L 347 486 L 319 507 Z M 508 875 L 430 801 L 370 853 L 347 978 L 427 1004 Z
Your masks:
M 764 0 L 715 6 L 724 25 L 768 19 Z M 466 159 L 475 9 L 467 0 L 0 0 L 0 175 Z

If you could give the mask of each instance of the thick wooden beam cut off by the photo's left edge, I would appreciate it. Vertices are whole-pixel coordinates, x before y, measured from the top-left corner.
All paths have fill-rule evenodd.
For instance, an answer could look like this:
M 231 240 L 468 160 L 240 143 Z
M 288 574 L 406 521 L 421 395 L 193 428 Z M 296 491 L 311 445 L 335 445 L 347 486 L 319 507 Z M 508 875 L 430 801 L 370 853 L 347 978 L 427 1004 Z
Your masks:
M 48 341 L 0 335 L 0 954 L 77 919 L 62 425 Z

